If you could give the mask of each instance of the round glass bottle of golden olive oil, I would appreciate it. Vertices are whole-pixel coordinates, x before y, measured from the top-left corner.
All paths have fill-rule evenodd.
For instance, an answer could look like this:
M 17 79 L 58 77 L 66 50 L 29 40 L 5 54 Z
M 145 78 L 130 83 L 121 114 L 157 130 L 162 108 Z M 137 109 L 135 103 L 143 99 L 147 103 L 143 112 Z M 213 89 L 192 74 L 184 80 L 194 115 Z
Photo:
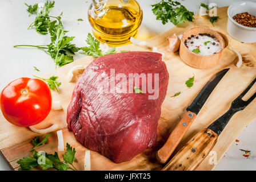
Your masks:
M 122 46 L 138 34 L 142 10 L 135 0 L 93 0 L 89 8 L 93 34 L 101 43 Z

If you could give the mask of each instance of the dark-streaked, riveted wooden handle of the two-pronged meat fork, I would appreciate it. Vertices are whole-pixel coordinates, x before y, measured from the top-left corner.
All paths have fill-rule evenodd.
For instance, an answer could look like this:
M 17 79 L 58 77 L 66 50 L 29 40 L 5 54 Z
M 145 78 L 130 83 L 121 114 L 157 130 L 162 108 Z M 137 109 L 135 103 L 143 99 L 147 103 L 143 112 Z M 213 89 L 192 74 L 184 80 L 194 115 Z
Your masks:
M 193 171 L 210 153 L 217 139 L 214 131 L 203 129 L 174 155 L 162 171 Z

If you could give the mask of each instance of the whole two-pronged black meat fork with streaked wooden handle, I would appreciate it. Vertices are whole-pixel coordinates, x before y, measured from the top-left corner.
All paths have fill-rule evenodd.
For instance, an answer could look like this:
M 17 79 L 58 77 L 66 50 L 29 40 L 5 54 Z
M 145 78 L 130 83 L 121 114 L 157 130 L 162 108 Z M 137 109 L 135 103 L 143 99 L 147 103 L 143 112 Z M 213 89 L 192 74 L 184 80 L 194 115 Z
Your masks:
M 223 131 L 231 117 L 245 109 L 247 105 L 256 97 L 256 93 L 253 94 L 247 101 L 243 101 L 242 98 L 255 84 L 256 78 L 251 84 L 231 103 L 230 109 L 215 120 L 206 129 L 201 130 L 193 138 L 189 140 L 174 155 L 169 163 L 162 169 L 163 171 L 192 171 L 206 158 L 211 149 L 215 146 L 219 134 Z

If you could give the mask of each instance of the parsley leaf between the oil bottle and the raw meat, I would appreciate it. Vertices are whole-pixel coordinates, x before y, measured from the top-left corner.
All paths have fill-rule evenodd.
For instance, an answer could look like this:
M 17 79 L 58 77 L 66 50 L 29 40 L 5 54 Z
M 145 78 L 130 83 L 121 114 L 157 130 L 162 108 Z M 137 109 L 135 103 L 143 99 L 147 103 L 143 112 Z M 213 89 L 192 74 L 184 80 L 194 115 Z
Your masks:
M 90 33 L 87 35 L 86 43 L 89 47 L 81 47 L 80 49 L 86 53 L 87 56 L 101 57 L 116 53 L 115 47 L 112 47 L 109 51 L 102 53 L 102 50 L 99 48 L 99 41 Z

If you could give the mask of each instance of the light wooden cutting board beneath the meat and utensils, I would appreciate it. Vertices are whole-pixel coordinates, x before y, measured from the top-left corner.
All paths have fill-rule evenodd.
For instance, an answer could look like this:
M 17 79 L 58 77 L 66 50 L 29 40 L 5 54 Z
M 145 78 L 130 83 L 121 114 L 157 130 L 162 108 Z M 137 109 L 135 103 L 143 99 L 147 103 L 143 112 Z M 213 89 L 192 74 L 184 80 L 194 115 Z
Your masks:
M 223 68 L 231 68 L 208 98 L 205 105 L 199 112 L 197 119 L 195 119 L 193 125 L 190 127 L 177 149 L 181 148 L 182 145 L 185 144 L 187 140 L 193 137 L 193 135 L 198 131 L 207 127 L 211 122 L 224 114 L 229 109 L 231 101 L 233 101 L 256 76 L 256 44 L 240 43 L 230 38 L 226 31 L 227 7 L 219 8 L 218 16 L 219 19 L 216 23 L 214 23 L 214 27 L 209 22 L 207 16 L 201 17 L 199 15 L 195 15 L 193 23 L 185 22 L 181 26 L 171 28 L 169 31 L 155 36 L 147 41 L 149 43 L 147 47 L 139 47 L 135 46 L 134 44 L 129 44 L 117 48 L 118 50 L 152 51 L 153 47 L 157 47 L 159 51 L 165 53 L 163 60 L 165 61 L 169 71 L 170 80 L 166 98 L 162 104 L 161 118 L 158 122 L 159 137 L 157 147 L 162 146 L 169 133 L 174 129 L 175 125 L 177 125 L 183 114 L 185 114 L 186 107 L 191 101 L 193 101 L 199 90 L 203 85 L 206 84 L 207 80 L 214 75 L 214 73 L 221 71 Z M 227 43 L 242 54 L 244 62 L 242 67 L 235 67 L 234 64 L 237 56 L 229 49 L 225 49 L 223 51 L 221 61 L 217 67 L 204 70 L 194 69 L 187 66 L 181 61 L 178 52 L 171 53 L 167 51 L 169 46 L 167 41 L 168 36 L 173 35 L 174 33 L 180 35 L 187 29 L 195 26 L 205 26 L 219 31 L 227 40 Z M 77 140 L 75 140 L 73 133 L 68 131 L 66 128 L 66 108 L 67 105 L 69 105 L 71 94 L 75 85 L 75 83 L 69 83 L 67 81 L 67 72 L 69 72 L 69 70 L 75 65 L 83 65 L 86 67 L 91 61 L 93 61 L 93 57 L 86 56 L 80 60 L 74 61 L 74 63 L 70 63 L 65 67 L 54 70 L 43 76 L 45 78 L 53 75 L 59 76 L 59 81 L 62 82 L 62 85 L 60 87 L 59 94 L 52 91 L 53 100 L 61 101 L 65 109 L 61 111 L 52 110 L 45 121 L 35 126 L 38 129 L 43 129 L 52 125 L 53 123 L 58 123 L 59 129 L 63 130 L 63 138 L 65 143 L 70 143 L 71 146 L 75 147 L 77 150 L 77 162 L 75 163 L 75 167 L 81 170 L 83 170 L 83 160 L 85 150 L 87 150 L 87 148 L 78 143 Z M 185 82 L 193 75 L 195 76 L 194 86 L 187 88 Z M 255 92 L 255 90 L 256 85 L 254 85 L 247 96 L 251 95 L 253 92 Z M 178 97 L 172 97 L 177 92 L 182 93 Z M 243 127 L 248 125 L 256 118 L 255 110 L 256 100 L 251 102 L 246 109 L 239 111 L 231 118 L 225 130 L 219 136 L 217 144 L 213 148 L 213 151 L 217 152 L 218 162 L 237 138 L 239 133 L 241 133 Z M 0 115 L 0 124 L 1 154 L 10 164 L 10 167 L 17 170 L 19 167 L 17 160 L 23 158 L 24 156 L 31 155 L 29 150 L 33 146 L 30 142 L 31 139 L 36 137 L 38 134 L 33 133 L 27 128 L 11 125 L 5 120 L 5 118 L 3 118 L 2 114 Z M 56 132 L 53 132 L 52 136 L 50 137 L 49 144 L 39 147 L 38 150 L 53 153 L 54 151 L 57 151 L 57 145 L 57 134 Z M 62 153 L 60 152 L 60 154 Z M 203 163 L 198 166 L 197 170 L 214 169 L 215 164 L 209 163 L 210 157 L 211 156 L 207 156 Z M 91 170 L 154 170 L 161 168 L 161 164 L 157 163 L 157 160 L 155 159 L 154 150 L 145 150 L 142 152 L 142 154 L 137 155 L 130 162 L 121 164 L 115 164 L 98 152 L 91 151 Z

